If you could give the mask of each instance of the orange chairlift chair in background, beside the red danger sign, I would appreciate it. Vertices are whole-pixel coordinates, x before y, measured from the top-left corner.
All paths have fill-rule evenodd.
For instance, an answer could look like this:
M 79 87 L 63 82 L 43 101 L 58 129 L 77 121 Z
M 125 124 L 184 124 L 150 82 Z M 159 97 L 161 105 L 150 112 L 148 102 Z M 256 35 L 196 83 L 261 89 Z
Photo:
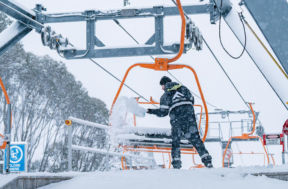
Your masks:
M 227 143 L 227 146 L 226 146 L 226 149 L 225 149 L 225 151 L 224 151 L 224 153 L 223 153 L 223 158 L 222 158 L 222 166 L 224 167 L 224 156 L 226 155 L 226 151 L 227 151 L 227 148 L 228 148 L 228 146 L 229 146 L 229 143 L 230 143 L 230 140 L 232 139 L 232 138 L 238 138 L 238 139 L 243 139 L 243 140 L 247 140 L 247 139 L 251 139 L 251 138 L 259 138 L 260 140 L 261 140 L 261 142 L 262 142 L 262 145 L 263 145 L 263 148 L 264 148 L 264 150 L 265 150 L 265 153 L 266 153 L 266 155 L 267 155 L 267 159 L 268 159 L 268 164 L 269 164 L 269 156 L 268 156 L 268 153 L 267 153 L 267 151 L 266 151 L 266 149 L 265 149 L 265 146 L 264 146 L 264 144 L 263 144 L 263 141 L 262 141 L 262 139 L 259 137 L 259 136 L 250 136 L 250 135 L 252 135 L 253 134 L 253 132 L 255 131 L 255 113 L 254 113 L 254 111 L 253 111 L 253 108 L 252 108 L 252 105 L 251 105 L 252 103 L 251 102 L 249 102 L 249 105 L 250 105 L 250 108 L 251 108 L 251 111 L 252 111 L 252 114 L 253 114 L 253 130 L 250 132 L 250 133 L 242 133 L 242 136 L 232 136 L 231 138 L 229 138 L 229 140 L 228 140 L 228 143 Z M 241 152 L 240 152 L 241 153 Z M 244 154 L 244 153 L 241 153 L 241 154 Z M 245 153 L 245 154 L 248 154 L 248 153 Z M 256 153 L 249 153 L 249 154 L 256 154 Z M 228 155 L 229 156 L 229 155 Z M 265 155 L 264 155 L 265 156 Z M 264 160 L 264 164 L 265 164 L 265 160 Z M 229 164 L 228 164 L 228 166 L 229 166 Z

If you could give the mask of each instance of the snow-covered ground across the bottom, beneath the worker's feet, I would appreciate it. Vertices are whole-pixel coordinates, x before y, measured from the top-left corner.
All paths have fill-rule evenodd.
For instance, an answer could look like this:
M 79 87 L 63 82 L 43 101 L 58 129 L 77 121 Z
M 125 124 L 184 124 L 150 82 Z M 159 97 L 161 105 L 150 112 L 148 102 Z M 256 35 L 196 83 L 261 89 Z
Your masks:
M 287 172 L 288 164 L 281 166 L 250 166 L 236 168 L 194 169 L 194 170 L 125 170 L 90 173 L 21 173 L 1 175 L 1 180 L 10 180 L 16 176 L 75 176 L 74 178 L 53 183 L 41 188 L 71 189 L 71 188 L 223 188 L 232 187 L 255 189 L 269 188 L 276 185 L 287 185 L 286 181 L 271 179 L 266 176 L 253 176 L 253 173 Z M 12 179 L 13 179 L 12 178 Z M 7 181 L 8 182 L 8 181 Z

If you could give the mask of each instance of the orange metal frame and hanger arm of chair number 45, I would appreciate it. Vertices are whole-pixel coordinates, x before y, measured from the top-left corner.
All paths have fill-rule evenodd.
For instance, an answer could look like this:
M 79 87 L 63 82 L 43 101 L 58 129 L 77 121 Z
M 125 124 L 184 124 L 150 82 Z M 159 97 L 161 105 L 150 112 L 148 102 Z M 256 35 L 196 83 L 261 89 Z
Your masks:
M 170 69 L 188 68 L 188 69 L 190 69 L 193 72 L 193 75 L 195 77 L 195 80 L 196 80 L 196 83 L 197 83 L 197 86 L 198 86 L 198 90 L 199 90 L 199 93 L 200 93 L 200 96 L 201 96 L 201 99 L 202 99 L 202 102 L 203 102 L 203 105 L 204 105 L 204 109 L 205 109 L 206 124 L 205 124 L 205 132 L 204 132 L 204 135 L 203 135 L 203 138 L 202 138 L 202 141 L 204 142 L 205 138 L 207 136 L 207 132 L 208 132 L 208 110 L 207 110 L 207 106 L 206 106 L 206 103 L 205 103 L 205 99 L 204 99 L 204 96 L 203 96 L 203 93 L 202 93 L 202 89 L 201 89 L 197 74 L 196 74 L 195 70 L 189 65 L 186 65 L 186 64 L 169 64 L 171 62 L 174 62 L 174 61 L 178 60 L 180 58 L 180 56 L 182 55 L 183 49 L 184 49 L 185 17 L 184 17 L 184 13 L 183 13 L 183 9 L 182 9 L 180 0 L 176 0 L 176 3 L 177 3 L 178 9 L 179 9 L 179 13 L 180 13 L 180 16 L 181 16 L 181 20 L 182 20 L 179 53 L 174 58 L 171 58 L 171 59 L 168 59 L 168 58 L 156 58 L 155 59 L 155 63 L 136 63 L 136 64 L 130 66 L 128 68 L 128 70 L 126 71 L 126 73 L 124 75 L 124 78 L 122 79 L 122 82 L 120 84 L 120 87 L 119 87 L 119 89 L 118 89 L 118 91 L 116 93 L 116 96 L 115 96 L 115 98 L 113 100 L 113 104 L 112 104 L 112 107 L 111 107 L 111 110 L 110 110 L 110 116 L 113 114 L 113 106 L 116 103 L 116 100 L 117 100 L 117 98 L 119 96 L 119 93 L 120 93 L 120 91 L 121 91 L 121 89 L 123 87 L 123 84 L 124 84 L 127 76 L 128 76 L 128 73 L 129 73 L 129 71 L 132 68 L 134 68 L 136 66 L 140 66 L 142 68 L 154 69 L 155 71 L 168 71 Z M 132 151 L 132 152 L 144 151 L 144 152 L 166 152 L 166 153 L 169 152 L 169 153 L 171 153 L 171 147 L 158 147 L 155 144 L 149 145 L 149 146 L 139 145 L 139 146 L 136 146 L 136 147 L 135 147 L 135 145 L 134 146 L 125 146 L 124 145 L 122 147 L 124 148 L 124 150 L 126 150 L 126 151 L 129 150 L 129 151 Z M 190 148 L 182 147 L 181 151 L 182 151 L 181 152 L 182 154 L 197 154 L 196 149 L 194 147 L 192 147 L 192 148 L 191 147 Z

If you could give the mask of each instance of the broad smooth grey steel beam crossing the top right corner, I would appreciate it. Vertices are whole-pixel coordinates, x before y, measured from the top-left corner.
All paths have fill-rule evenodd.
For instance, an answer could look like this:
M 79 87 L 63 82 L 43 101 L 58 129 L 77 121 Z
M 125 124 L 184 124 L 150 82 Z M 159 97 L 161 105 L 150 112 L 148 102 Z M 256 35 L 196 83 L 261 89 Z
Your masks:
M 288 2 L 286 0 L 243 1 L 288 73 Z

